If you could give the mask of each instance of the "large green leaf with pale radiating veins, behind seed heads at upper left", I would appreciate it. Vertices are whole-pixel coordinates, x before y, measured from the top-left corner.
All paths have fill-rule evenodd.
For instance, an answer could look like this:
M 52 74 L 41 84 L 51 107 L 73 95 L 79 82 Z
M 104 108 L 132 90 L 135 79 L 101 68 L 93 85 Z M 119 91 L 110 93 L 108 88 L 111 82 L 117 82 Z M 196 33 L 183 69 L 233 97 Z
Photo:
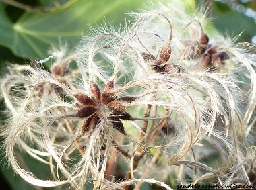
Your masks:
M 24 13 L 11 23 L 0 3 L 0 44 L 10 48 L 22 58 L 43 59 L 51 46 L 67 42 L 69 47 L 88 34 L 90 26 L 103 22 L 104 17 L 113 23 L 124 23 L 126 11 L 135 11 L 142 0 L 76 0 L 69 1 L 50 13 Z

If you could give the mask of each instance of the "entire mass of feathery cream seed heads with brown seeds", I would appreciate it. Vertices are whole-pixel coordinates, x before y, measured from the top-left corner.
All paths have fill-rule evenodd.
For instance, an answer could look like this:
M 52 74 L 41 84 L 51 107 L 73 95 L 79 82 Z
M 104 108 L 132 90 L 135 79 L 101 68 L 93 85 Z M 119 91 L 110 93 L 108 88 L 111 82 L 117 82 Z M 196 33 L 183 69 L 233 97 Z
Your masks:
M 205 9 L 192 12 L 154 5 L 56 53 L 51 72 L 11 66 L 1 136 L 14 171 L 73 189 L 255 185 L 253 45 L 206 30 Z M 51 177 L 26 170 L 22 151 Z

